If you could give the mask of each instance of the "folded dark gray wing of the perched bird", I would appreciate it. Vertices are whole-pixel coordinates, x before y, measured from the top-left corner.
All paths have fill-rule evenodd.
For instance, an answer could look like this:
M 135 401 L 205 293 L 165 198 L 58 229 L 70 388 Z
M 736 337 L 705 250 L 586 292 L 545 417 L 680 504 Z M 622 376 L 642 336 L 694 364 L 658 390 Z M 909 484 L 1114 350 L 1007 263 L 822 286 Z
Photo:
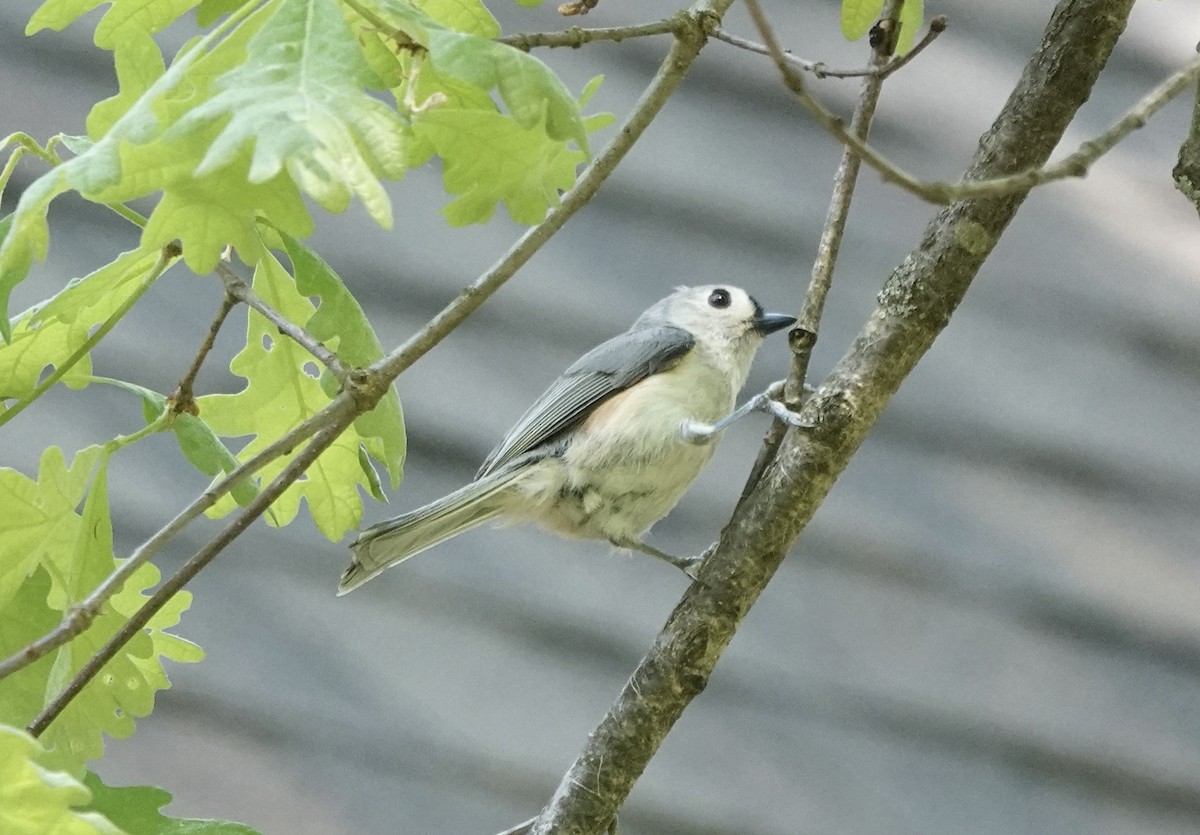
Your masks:
M 674 366 L 695 338 L 682 328 L 637 328 L 581 356 L 529 407 L 492 450 L 476 479 L 570 429 L 605 400 Z

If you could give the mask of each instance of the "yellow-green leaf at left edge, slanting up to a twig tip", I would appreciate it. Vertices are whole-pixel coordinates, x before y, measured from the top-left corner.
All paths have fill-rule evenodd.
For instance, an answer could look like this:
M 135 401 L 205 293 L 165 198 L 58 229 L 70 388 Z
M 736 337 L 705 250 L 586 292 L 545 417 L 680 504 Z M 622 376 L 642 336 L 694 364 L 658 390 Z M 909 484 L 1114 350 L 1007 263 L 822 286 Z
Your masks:
M 92 328 L 108 319 L 133 294 L 158 262 L 155 250 L 133 250 L 95 272 L 76 278 L 49 300 L 17 316 L 10 325 L 8 344 L 0 344 L 0 398 L 32 394 L 42 374 L 72 356 Z M 82 389 L 91 374 L 85 355 L 64 377 Z

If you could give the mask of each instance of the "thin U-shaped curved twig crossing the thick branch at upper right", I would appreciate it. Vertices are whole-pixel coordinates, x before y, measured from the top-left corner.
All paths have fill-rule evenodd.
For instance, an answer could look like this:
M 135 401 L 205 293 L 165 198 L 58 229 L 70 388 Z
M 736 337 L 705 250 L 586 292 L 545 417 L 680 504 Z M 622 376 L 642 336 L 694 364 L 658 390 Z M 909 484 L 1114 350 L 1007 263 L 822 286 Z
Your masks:
M 827 131 L 829 131 L 829 133 L 854 149 L 854 151 L 863 157 L 863 162 L 878 172 L 880 176 L 882 176 L 884 181 L 893 182 L 904 188 L 906 192 L 916 194 L 917 197 L 931 203 L 946 204 L 961 199 L 1002 197 L 1004 194 L 1025 192 L 1034 186 L 1051 182 L 1054 180 L 1084 176 L 1087 174 L 1087 169 L 1092 166 L 1092 163 L 1108 151 L 1112 150 L 1112 148 L 1129 133 L 1144 126 L 1152 115 L 1158 113 L 1169 101 L 1188 89 L 1188 86 L 1190 86 L 1192 83 L 1200 77 L 1200 58 L 1196 58 L 1184 64 L 1182 68 L 1172 73 L 1166 80 L 1146 94 L 1146 96 L 1144 96 L 1141 101 L 1126 113 L 1124 116 L 1117 120 L 1112 127 L 1094 139 L 1085 142 L 1074 154 L 1052 166 L 1030 168 L 1024 172 L 1018 172 L 1016 174 L 1009 174 L 988 180 L 926 182 L 918 180 L 912 174 L 908 174 L 872 146 L 868 145 L 865 142 L 847 131 L 842 120 L 835 116 L 828 108 L 826 108 L 824 104 L 820 102 L 820 100 L 809 92 L 803 77 L 800 77 L 788 64 L 787 56 L 780 48 L 779 41 L 775 38 L 774 30 L 772 30 L 770 24 L 763 16 L 757 0 L 746 0 L 746 8 L 750 12 L 750 17 L 754 19 L 755 25 L 758 28 L 758 34 L 767 44 L 767 50 L 770 54 L 772 60 L 775 62 L 775 67 L 784 77 L 784 84 L 788 90 L 796 94 L 796 97 L 799 98 L 804 108 L 811 113 L 812 116 L 821 122 Z

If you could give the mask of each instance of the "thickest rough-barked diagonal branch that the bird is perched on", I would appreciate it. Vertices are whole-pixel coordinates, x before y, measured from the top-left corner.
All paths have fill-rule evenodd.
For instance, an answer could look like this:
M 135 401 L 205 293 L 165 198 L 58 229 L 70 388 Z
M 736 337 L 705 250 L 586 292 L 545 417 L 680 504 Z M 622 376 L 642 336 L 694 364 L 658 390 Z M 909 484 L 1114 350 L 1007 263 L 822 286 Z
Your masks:
M 1086 101 L 1132 4 L 1058 4 L 1021 80 L 980 139 L 968 176 L 995 178 L 1045 162 Z M 816 428 L 785 435 L 779 459 L 588 735 L 534 833 L 593 835 L 617 812 L 868 429 L 949 322 L 1025 196 L 960 200 L 934 218 L 884 284 L 850 350 L 806 402 L 804 416 Z

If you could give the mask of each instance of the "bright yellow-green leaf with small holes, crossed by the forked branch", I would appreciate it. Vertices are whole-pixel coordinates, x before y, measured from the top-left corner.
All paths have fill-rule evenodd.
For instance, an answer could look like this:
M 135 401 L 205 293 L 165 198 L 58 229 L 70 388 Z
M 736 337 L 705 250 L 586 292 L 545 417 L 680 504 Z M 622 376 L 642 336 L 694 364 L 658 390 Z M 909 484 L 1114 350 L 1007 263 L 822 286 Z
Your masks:
M 270 254 L 254 270 L 253 289 L 292 322 L 308 322 L 313 314 L 312 302 L 296 290 L 292 276 Z M 330 400 L 322 389 L 316 360 L 254 311 L 247 314 L 246 347 L 229 368 L 246 379 L 246 388 L 233 395 L 208 395 L 198 403 L 200 414 L 217 434 L 253 435 L 238 453 L 239 461 L 252 457 Z M 358 451 L 364 443 L 355 428 L 342 433 L 272 504 L 277 523 L 292 522 L 301 500 L 307 500 L 313 521 L 330 540 L 336 541 L 356 527 L 362 516 L 358 486 L 370 489 L 359 467 Z M 274 479 L 292 457 L 283 456 L 268 464 L 259 470 L 259 477 Z M 221 515 L 232 509 L 233 501 L 222 499 L 210 512 Z

